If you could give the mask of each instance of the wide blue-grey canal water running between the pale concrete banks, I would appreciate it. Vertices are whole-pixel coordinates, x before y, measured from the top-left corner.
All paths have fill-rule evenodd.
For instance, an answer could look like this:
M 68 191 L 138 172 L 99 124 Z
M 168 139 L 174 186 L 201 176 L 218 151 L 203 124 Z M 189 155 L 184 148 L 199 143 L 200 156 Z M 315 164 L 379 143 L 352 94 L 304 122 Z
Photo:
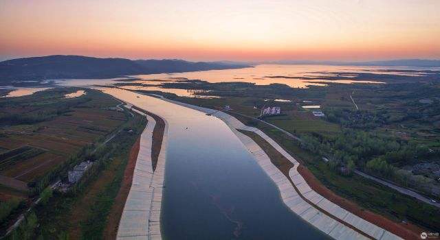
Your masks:
M 223 121 L 154 97 L 102 88 L 168 121 L 164 239 L 325 239 L 289 211 Z

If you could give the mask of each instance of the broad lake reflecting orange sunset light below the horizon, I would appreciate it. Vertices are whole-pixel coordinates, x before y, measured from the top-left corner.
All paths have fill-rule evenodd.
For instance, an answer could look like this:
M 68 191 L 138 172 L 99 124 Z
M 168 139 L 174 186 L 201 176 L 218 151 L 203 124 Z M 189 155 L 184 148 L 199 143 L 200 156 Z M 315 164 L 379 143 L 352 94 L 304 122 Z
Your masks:
M 155 86 L 124 86 L 126 89 L 162 91 L 165 93 L 174 93 L 184 97 L 195 97 L 193 91 L 186 89 L 161 88 L 163 82 L 176 82 L 182 79 L 188 80 L 205 80 L 208 82 L 252 82 L 258 85 L 265 84 L 286 84 L 293 88 L 307 88 L 309 85 L 325 86 L 326 82 L 337 82 L 342 84 L 370 83 L 380 84 L 377 81 L 353 81 L 347 79 L 340 80 L 320 80 L 314 77 L 338 77 L 340 76 L 354 77 L 353 73 L 380 73 L 395 75 L 423 75 L 426 73 L 402 73 L 388 72 L 384 69 L 413 69 L 413 70 L 438 70 L 439 68 L 417 68 L 417 67 L 371 67 L 371 66 L 328 66 L 328 65 L 289 65 L 289 64 L 261 64 L 256 67 L 248 67 L 244 69 L 225 69 L 210 71 L 194 71 L 188 73 L 162 73 L 148 75 L 132 75 L 131 77 L 139 78 L 138 81 L 131 83 L 142 83 Z M 271 76 L 284 76 L 281 78 L 271 78 Z M 308 77 L 303 80 L 300 77 Z M 107 80 L 56 80 L 58 84 L 63 86 L 88 86 L 91 84 L 114 84 L 121 82 L 127 77 L 118 77 Z

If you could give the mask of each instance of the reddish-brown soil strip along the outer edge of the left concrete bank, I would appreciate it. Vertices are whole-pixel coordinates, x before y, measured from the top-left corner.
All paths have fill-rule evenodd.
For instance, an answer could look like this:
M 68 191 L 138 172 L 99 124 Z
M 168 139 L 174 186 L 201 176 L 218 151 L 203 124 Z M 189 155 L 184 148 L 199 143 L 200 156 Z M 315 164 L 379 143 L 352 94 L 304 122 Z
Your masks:
M 129 195 L 131 182 L 133 180 L 133 173 L 135 171 L 135 165 L 137 160 L 137 154 L 140 148 L 140 136 L 137 141 L 131 147 L 129 154 L 129 162 L 126 164 L 124 171 L 124 178 L 121 182 L 121 187 L 119 189 L 118 195 L 115 197 L 111 211 L 107 217 L 107 226 L 103 232 L 103 239 L 116 239 L 118 235 L 119 221 L 122 216 L 122 211 L 124 210 L 126 198 Z

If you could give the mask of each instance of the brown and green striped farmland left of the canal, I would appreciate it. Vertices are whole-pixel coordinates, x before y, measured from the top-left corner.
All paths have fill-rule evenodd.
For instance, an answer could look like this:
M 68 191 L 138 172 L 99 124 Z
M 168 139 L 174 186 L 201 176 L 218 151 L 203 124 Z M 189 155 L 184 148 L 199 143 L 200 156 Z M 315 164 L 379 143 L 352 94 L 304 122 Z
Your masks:
M 76 91 L 55 88 L 0 99 L 1 176 L 34 182 L 126 121 L 124 112 L 110 110 L 119 101 L 90 89 L 64 97 Z

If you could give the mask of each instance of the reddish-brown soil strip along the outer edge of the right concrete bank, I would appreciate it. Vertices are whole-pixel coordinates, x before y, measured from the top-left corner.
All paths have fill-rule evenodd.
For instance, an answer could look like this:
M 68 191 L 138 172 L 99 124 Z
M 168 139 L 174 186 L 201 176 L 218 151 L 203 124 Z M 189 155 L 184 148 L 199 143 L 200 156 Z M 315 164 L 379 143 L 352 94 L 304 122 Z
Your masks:
M 376 213 L 372 213 L 364 208 L 361 208 L 357 204 L 351 202 L 350 200 L 345 199 L 344 197 L 340 197 L 333 193 L 330 189 L 327 189 L 324 185 L 322 185 L 318 179 L 303 165 L 298 166 L 298 172 L 303 176 L 307 184 L 319 193 L 323 197 L 327 198 L 327 200 L 337 204 L 338 206 L 344 208 L 345 210 L 353 213 L 354 215 L 365 219 L 366 221 L 371 222 L 389 232 L 393 232 L 393 234 L 403 238 L 403 239 L 420 239 L 420 232 L 423 232 L 421 228 L 413 224 L 401 224 L 396 223 L 395 221 L 391 221 L 384 216 L 377 215 Z

